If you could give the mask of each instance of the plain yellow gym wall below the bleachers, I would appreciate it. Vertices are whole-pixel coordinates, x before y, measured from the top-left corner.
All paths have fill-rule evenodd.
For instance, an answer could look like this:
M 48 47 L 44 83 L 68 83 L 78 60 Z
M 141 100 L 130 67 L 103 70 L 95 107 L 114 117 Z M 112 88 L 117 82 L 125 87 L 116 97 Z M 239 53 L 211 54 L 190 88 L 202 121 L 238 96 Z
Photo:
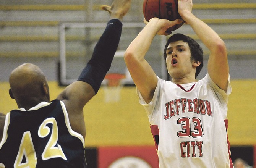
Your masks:
M 231 145 L 256 144 L 256 80 L 232 80 L 228 103 L 228 137 Z M 49 82 L 50 99 L 63 90 Z M 9 85 L 0 82 L 0 112 L 17 108 L 8 95 Z M 118 102 L 105 102 L 104 89 L 84 107 L 86 146 L 154 145 L 144 108 L 139 105 L 135 87 L 123 87 Z

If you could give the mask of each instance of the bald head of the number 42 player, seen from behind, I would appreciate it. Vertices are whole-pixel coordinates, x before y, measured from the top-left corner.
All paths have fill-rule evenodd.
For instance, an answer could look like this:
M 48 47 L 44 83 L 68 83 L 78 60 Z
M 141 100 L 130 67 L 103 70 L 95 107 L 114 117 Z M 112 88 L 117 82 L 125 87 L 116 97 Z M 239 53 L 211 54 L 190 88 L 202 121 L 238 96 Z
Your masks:
M 34 64 L 25 63 L 15 68 L 10 74 L 9 83 L 18 106 L 49 101 L 49 88 L 44 73 Z

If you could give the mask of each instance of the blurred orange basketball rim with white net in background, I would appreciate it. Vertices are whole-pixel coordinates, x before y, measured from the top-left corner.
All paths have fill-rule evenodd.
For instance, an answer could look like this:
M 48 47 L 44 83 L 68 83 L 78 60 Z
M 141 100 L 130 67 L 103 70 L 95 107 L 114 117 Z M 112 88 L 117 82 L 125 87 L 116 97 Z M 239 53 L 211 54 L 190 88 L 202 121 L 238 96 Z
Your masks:
M 106 74 L 107 84 L 104 87 L 105 102 L 118 102 L 120 100 L 120 92 L 123 87 L 121 80 L 124 78 L 125 74 Z

